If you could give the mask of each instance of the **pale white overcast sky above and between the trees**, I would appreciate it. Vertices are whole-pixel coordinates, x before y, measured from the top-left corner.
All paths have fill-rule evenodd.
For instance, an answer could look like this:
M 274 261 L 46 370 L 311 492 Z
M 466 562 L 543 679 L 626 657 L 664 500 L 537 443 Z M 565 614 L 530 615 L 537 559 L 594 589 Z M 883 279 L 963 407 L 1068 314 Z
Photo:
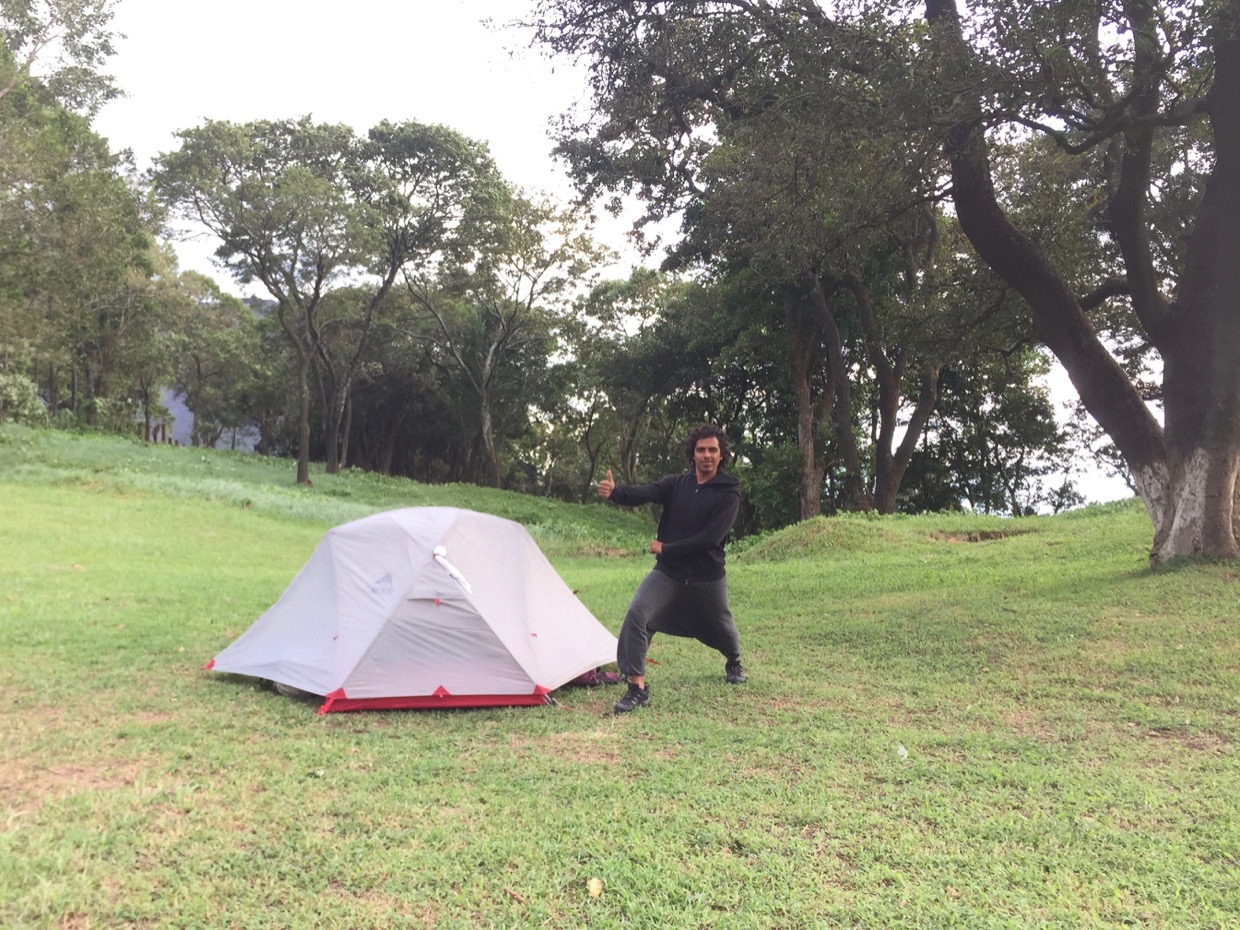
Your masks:
M 511 182 L 563 198 L 572 187 L 551 157 L 551 122 L 584 98 L 584 73 L 529 47 L 507 24 L 533 0 L 119 0 L 109 72 L 126 94 L 94 128 L 138 167 L 176 148 L 205 119 L 236 123 L 311 115 L 365 131 L 381 120 L 441 123 L 485 141 Z M 629 221 L 600 211 L 599 236 L 625 253 Z M 247 294 L 213 265 L 206 238 L 177 243 L 182 269 Z M 627 265 L 616 274 L 624 274 Z M 1073 396 L 1061 371 L 1060 402 Z M 1131 496 L 1117 479 L 1080 481 L 1090 501 Z

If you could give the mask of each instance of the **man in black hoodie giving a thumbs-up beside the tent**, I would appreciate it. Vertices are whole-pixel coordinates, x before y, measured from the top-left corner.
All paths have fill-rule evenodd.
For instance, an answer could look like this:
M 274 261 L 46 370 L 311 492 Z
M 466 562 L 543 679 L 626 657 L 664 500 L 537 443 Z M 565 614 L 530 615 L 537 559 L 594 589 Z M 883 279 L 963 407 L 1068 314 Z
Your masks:
M 693 470 L 652 485 L 618 485 L 610 471 L 599 481 L 599 497 L 613 503 L 663 507 L 650 544 L 655 569 L 637 585 L 620 626 L 616 663 L 629 680 L 629 691 L 616 702 L 618 714 L 650 703 L 646 650 L 656 632 L 689 636 L 719 650 L 727 660 L 727 681 L 745 681 L 724 573 L 723 544 L 740 510 L 740 482 L 720 469 L 728 458 L 728 436 L 718 427 L 694 427 L 684 453 Z

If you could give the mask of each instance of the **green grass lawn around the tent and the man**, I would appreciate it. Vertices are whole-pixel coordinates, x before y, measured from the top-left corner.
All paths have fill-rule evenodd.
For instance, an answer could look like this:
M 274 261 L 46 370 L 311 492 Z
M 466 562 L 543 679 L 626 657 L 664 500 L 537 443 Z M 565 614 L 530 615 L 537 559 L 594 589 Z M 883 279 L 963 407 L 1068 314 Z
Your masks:
M 316 717 L 202 665 L 330 526 L 520 520 L 615 630 L 650 523 L 314 479 L 0 428 L 0 926 L 1235 926 L 1236 567 L 1148 572 L 1135 502 L 745 541 L 739 688 L 658 637 L 630 717 Z

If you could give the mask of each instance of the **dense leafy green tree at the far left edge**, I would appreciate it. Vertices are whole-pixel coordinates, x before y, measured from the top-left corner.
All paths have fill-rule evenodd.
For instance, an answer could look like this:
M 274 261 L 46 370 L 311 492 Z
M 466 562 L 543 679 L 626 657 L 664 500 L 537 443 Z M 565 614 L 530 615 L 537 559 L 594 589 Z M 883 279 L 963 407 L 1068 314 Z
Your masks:
M 68 405 L 93 423 L 97 401 L 128 391 L 125 367 L 154 331 L 144 295 L 157 211 L 46 88 L 0 98 L 0 365 L 29 365 L 53 412 L 68 382 Z

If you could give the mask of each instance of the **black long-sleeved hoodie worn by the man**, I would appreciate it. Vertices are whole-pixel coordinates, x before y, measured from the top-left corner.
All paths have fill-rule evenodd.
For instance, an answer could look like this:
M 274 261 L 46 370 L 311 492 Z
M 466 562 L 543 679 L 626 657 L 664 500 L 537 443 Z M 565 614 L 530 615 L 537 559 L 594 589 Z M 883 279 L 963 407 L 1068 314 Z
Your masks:
M 723 544 L 740 510 L 740 481 L 717 471 L 703 485 L 687 471 L 652 485 L 616 485 L 609 498 L 621 507 L 661 503 L 657 539 L 663 552 L 655 570 L 677 582 L 717 582 L 724 575 Z

